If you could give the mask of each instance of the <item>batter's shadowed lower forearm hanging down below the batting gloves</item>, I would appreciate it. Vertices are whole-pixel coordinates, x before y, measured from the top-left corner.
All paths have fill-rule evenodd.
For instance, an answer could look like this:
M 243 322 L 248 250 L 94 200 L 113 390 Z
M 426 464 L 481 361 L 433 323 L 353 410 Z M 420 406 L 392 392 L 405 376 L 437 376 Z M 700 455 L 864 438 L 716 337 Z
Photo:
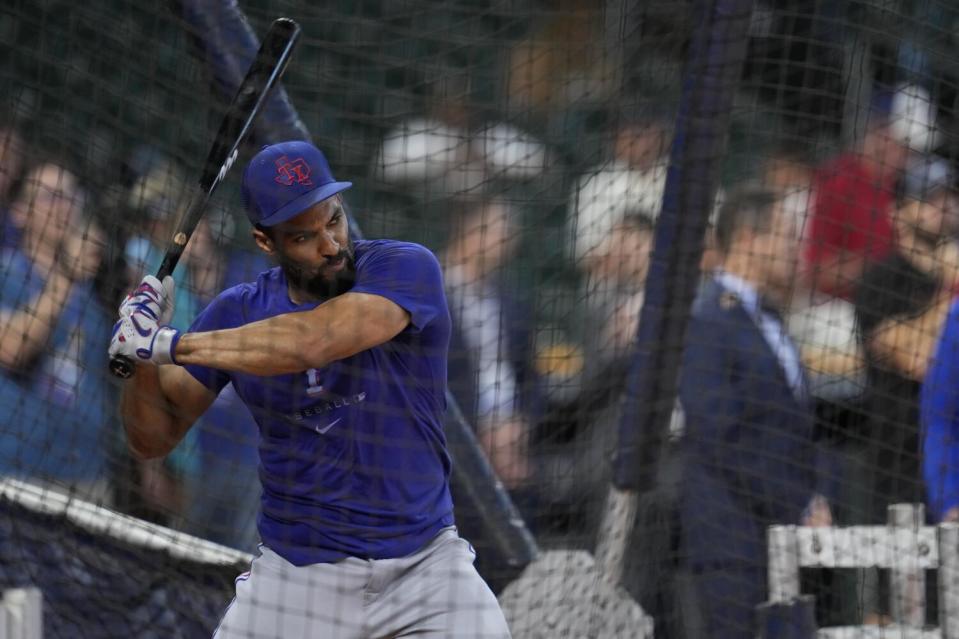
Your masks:
M 174 408 L 163 392 L 157 366 L 137 365 L 136 374 L 123 385 L 120 416 L 127 445 L 137 457 L 163 457 L 179 441 Z

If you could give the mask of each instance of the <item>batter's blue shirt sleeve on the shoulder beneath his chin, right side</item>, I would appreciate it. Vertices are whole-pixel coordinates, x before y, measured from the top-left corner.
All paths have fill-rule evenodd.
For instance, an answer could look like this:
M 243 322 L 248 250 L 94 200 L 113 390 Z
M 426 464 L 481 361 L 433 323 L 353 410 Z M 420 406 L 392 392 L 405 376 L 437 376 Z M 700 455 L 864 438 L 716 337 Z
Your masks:
M 417 332 L 448 312 L 439 262 L 418 244 L 389 244 L 365 254 L 351 291 L 390 300 L 410 314 Z

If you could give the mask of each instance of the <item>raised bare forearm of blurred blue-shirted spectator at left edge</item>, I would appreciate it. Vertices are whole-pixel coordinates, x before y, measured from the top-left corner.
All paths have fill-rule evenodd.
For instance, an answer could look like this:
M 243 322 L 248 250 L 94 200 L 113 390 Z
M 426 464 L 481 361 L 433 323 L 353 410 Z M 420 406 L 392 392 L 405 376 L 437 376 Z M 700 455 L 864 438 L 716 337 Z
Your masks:
M 0 315 L 0 365 L 16 370 L 43 350 L 72 290 L 69 278 L 54 271 L 34 300 Z

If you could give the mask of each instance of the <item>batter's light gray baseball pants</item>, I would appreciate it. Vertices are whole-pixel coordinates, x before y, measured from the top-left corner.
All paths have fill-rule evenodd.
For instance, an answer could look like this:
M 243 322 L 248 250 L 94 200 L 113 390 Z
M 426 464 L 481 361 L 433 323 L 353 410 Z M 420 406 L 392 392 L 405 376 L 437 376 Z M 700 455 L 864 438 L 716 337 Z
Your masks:
M 262 546 L 214 639 L 508 639 L 473 548 L 446 528 L 397 559 L 294 566 Z

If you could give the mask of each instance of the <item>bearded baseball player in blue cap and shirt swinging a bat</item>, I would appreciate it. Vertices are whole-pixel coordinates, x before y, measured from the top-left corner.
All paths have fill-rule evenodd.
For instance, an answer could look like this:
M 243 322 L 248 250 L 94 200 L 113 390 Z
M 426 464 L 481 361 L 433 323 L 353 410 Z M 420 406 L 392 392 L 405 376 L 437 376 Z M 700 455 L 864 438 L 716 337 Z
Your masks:
M 351 242 L 341 191 L 306 142 L 243 174 L 260 249 L 279 264 L 165 324 L 172 278 L 120 307 L 110 355 L 134 359 L 133 452 L 172 450 L 228 383 L 260 428 L 263 544 L 214 637 L 509 637 L 453 525 L 445 410 L 450 318 L 439 264 Z

